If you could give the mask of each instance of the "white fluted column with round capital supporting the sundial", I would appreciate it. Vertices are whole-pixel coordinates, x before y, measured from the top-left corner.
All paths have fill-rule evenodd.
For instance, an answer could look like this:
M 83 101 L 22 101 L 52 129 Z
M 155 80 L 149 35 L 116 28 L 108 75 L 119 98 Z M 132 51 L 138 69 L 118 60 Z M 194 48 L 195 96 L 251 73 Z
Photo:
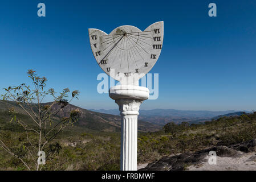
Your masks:
M 149 97 L 142 86 L 118 85 L 109 89 L 109 97 L 119 105 L 121 115 L 121 171 L 137 170 L 137 118 L 140 105 Z

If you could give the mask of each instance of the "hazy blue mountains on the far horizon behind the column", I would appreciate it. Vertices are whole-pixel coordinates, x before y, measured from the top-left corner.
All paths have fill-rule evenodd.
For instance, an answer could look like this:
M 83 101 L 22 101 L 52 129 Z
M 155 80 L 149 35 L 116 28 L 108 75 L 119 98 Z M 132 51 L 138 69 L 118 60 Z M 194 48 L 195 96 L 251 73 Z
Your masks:
M 118 109 L 90 109 L 99 113 L 119 115 Z M 208 110 L 176 110 L 176 109 L 153 109 L 153 110 L 140 110 L 139 119 L 154 123 L 156 125 L 165 125 L 168 122 L 181 123 L 183 121 L 189 123 L 198 123 L 209 121 L 214 117 L 226 115 L 230 113 L 237 113 L 235 110 L 226 111 L 208 111 Z M 239 111 L 242 112 L 242 111 Z

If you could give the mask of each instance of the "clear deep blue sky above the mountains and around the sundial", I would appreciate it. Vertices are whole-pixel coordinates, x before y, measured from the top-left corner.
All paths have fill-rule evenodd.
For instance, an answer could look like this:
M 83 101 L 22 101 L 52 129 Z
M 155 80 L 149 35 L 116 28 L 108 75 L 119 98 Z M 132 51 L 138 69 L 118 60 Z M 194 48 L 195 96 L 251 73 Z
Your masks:
M 37 5 L 46 5 L 46 17 Z M 208 5 L 217 5 L 217 17 Z M 144 30 L 164 21 L 164 44 L 150 73 L 159 98 L 141 109 L 256 110 L 256 1 L 1 1 L 0 88 L 29 83 L 27 69 L 48 87 L 78 89 L 72 104 L 117 109 L 97 93 L 101 73 L 88 28 L 107 33 L 129 24 Z M 3 93 L 1 90 L 0 93 Z

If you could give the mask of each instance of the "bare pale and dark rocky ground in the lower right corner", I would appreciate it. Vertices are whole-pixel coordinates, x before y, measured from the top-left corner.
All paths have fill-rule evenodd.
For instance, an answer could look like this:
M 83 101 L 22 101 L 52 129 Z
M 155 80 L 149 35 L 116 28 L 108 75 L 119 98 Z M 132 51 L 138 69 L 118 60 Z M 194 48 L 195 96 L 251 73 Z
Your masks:
M 208 163 L 209 151 L 216 151 L 217 163 Z M 157 162 L 149 163 L 140 171 L 177 171 L 177 170 L 256 170 L 256 139 L 249 142 L 215 147 L 180 155 L 166 156 Z

